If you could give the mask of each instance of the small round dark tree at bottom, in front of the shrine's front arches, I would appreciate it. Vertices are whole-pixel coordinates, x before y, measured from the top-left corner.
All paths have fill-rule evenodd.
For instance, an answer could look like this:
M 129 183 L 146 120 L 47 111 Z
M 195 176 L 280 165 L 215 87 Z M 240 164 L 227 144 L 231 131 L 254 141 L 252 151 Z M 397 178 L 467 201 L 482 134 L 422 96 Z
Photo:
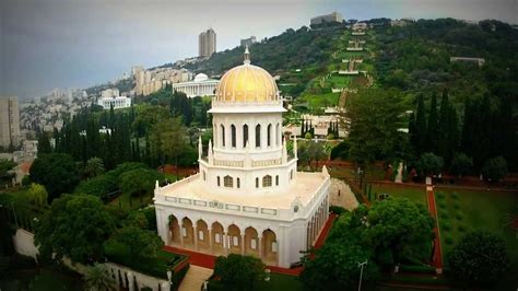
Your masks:
M 252 290 L 264 276 L 264 264 L 252 256 L 229 254 L 216 258 L 214 275 L 228 290 Z

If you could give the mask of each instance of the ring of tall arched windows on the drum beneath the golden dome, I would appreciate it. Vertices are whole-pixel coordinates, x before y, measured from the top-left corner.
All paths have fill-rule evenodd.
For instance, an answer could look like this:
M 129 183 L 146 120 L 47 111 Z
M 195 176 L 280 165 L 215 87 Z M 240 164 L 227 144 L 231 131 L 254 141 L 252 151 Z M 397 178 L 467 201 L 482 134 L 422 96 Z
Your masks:
M 264 129 L 266 128 L 266 129 Z M 214 144 L 220 148 L 246 148 L 247 143 L 256 148 L 270 148 L 281 146 L 281 124 L 268 124 L 267 126 L 257 124 L 250 129 L 247 124 L 243 126 L 214 125 Z M 266 132 L 263 132 L 266 130 Z M 239 132 L 238 132 L 239 131 Z M 250 135 L 251 133 L 251 135 Z M 252 140 L 249 140 L 249 138 Z

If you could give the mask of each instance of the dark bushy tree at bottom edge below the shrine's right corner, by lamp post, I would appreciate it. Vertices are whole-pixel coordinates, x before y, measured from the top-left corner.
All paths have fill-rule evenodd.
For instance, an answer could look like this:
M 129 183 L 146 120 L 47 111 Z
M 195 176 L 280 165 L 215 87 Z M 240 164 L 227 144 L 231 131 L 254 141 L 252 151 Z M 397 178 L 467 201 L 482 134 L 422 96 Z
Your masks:
M 308 290 L 353 290 L 360 278 L 358 264 L 370 260 L 372 253 L 350 242 L 330 242 L 303 259 L 304 270 L 301 280 Z M 374 261 L 368 261 L 363 270 L 363 281 L 372 282 L 378 278 L 379 270 Z

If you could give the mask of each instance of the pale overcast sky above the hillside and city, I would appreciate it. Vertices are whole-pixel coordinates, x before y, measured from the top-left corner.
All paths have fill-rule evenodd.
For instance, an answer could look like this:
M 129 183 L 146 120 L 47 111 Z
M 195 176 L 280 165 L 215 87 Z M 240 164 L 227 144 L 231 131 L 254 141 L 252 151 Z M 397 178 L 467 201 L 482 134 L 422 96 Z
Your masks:
M 315 15 L 344 19 L 456 18 L 517 23 L 518 0 L 0 0 L 0 95 L 114 80 L 198 54 L 212 27 L 217 50 L 278 35 Z

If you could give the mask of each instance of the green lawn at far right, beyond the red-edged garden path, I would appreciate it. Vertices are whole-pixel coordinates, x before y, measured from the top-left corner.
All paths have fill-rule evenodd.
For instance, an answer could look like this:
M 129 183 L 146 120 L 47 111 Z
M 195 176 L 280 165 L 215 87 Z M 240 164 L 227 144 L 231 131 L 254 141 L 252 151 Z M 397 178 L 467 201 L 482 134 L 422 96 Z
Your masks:
M 467 232 L 483 230 L 504 237 L 511 259 L 518 263 L 516 233 L 504 226 L 517 214 L 518 193 L 437 187 L 435 197 L 445 258 Z

